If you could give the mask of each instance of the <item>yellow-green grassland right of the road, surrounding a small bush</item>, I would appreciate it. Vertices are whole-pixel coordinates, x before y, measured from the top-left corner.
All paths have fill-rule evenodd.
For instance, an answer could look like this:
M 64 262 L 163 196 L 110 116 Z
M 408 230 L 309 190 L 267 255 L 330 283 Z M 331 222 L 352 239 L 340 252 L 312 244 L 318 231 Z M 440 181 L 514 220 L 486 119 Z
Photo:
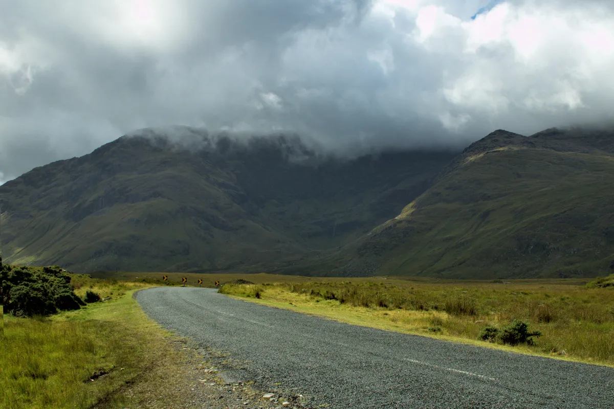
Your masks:
M 560 280 L 548 285 L 547 280 L 391 284 L 352 279 L 227 284 L 220 292 L 350 324 L 614 366 L 612 288 L 565 285 Z M 478 340 L 484 327 L 500 328 L 514 319 L 529 324 L 530 331 L 542 332 L 535 345 L 512 347 Z

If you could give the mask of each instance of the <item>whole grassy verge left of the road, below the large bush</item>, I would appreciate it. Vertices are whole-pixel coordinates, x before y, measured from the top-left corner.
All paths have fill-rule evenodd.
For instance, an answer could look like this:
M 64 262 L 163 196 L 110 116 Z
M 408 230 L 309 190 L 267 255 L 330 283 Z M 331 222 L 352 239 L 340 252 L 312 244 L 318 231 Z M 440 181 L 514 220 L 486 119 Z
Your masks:
M 133 408 L 151 396 L 169 397 L 161 389 L 166 375 L 178 370 L 169 343 L 174 337 L 133 298 L 151 285 L 87 276 L 74 277 L 74 284 L 79 296 L 90 289 L 112 298 L 49 318 L 4 316 L 0 406 Z M 135 395 L 144 382 L 146 390 Z

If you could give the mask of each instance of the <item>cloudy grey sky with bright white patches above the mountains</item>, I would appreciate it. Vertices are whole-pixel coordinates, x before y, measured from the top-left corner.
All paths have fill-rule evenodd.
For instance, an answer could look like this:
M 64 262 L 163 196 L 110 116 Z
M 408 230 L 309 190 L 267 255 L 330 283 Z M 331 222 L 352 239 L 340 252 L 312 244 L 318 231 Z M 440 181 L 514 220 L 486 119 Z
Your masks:
M 462 147 L 612 121 L 610 0 L 0 0 L 0 183 L 135 129 Z

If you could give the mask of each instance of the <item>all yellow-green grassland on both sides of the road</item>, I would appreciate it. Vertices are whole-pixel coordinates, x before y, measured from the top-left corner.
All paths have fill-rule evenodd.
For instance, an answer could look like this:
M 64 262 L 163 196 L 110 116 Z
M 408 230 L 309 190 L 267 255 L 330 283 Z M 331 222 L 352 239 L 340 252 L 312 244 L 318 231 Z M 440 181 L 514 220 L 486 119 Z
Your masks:
M 184 370 L 169 342 L 177 338 L 147 318 L 132 295 L 153 285 L 178 285 L 181 277 L 188 286 L 198 278 L 209 287 L 219 280 L 230 296 L 351 324 L 614 366 L 614 287 L 586 286 L 587 280 L 166 273 L 169 280 L 162 282 L 163 273 L 106 275 L 72 278 L 77 295 L 90 289 L 104 302 L 49 318 L 4 316 L 1 407 L 138 408 L 151 400 L 173 407 L 181 397 L 172 380 Z M 233 284 L 238 280 L 254 284 Z M 542 332 L 534 346 L 477 340 L 486 325 L 502 327 L 516 318 Z

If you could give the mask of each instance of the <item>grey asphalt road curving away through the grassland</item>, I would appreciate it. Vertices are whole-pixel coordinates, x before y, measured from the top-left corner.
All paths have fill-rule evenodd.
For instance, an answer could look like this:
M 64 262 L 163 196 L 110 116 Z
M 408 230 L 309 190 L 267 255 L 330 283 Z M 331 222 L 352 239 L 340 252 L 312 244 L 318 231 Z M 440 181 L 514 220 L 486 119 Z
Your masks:
M 136 296 L 163 327 L 225 351 L 258 389 L 335 408 L 614 408 L 614 369 L 337 323 L 214 289 Z M 614 342 L 614 341 L 613 341 Z

